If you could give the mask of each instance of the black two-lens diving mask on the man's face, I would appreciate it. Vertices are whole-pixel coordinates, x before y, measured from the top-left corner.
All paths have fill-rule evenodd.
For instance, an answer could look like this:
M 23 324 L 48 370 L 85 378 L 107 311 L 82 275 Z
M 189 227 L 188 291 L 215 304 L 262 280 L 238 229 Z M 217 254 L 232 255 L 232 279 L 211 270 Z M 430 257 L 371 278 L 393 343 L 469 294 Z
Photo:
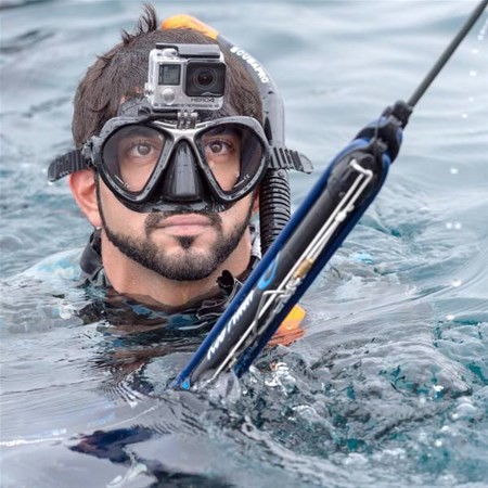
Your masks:
M 93 167 L 115 196 L 136 211 L 176 207 L 222 211 L 251 193 L 268 167 L 269 147 L 260 124 L 246 116 L 197 123 L 181 113 L 169 120 L 146 111 L 145 101 L 111 118 L 84 145 L 85 167 Z M 160 118 L 165 117 L 165 118 Z M 66 157 L 51 164 L 51 181 L 64 176 Z M 76 168 L 81 169 L 81 168 Z

